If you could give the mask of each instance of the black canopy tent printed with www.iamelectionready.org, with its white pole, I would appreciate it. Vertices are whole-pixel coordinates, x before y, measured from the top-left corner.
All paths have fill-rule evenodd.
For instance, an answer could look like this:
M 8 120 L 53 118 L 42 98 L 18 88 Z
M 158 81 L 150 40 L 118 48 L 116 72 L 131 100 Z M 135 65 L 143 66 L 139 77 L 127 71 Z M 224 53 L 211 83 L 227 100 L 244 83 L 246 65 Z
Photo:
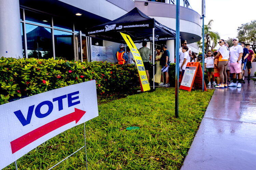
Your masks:
M 125 43 L 120 32 L 130 35 L 134 43 L 141 43 L 143 40 L 153 41 L 153 47 L 155 41 L 170 40 L 176 37 L 174 30 L 162 25 L 154 18 L 148 17 L 137 7 L 113 21 L 87 29 L 87 35 L 90 37 Z M 154 64 L 155 53 L 153 52 Z M 155 72 L 155 67 L 153 67 L 153 72 Z M 155 88 L 155 74 L 153 82 L 153 88 Z

